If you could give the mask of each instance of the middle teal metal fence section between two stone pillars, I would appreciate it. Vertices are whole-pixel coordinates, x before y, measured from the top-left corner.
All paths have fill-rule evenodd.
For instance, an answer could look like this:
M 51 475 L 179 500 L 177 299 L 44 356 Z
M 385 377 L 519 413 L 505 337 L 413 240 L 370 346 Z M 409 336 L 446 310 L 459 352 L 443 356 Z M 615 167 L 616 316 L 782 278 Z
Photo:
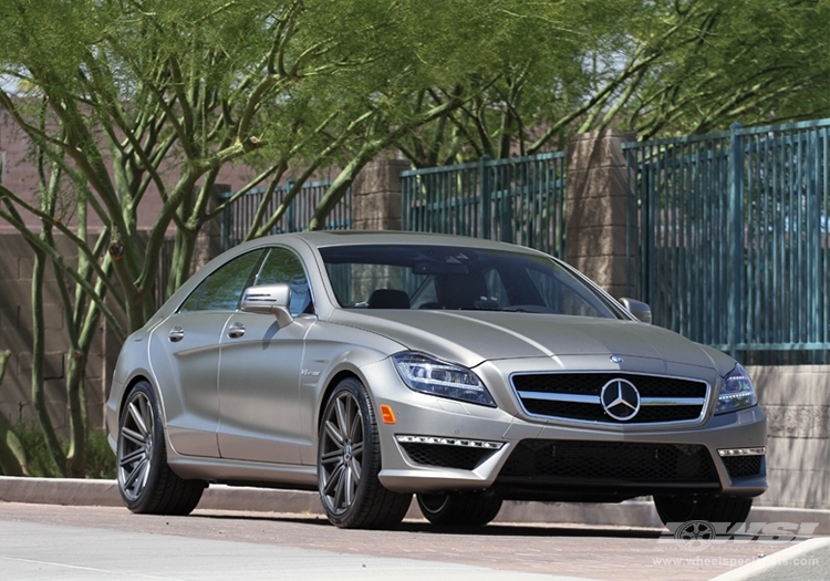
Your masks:
M 564 258 L 564 153 L 401 174 L 403 229 L 502 240 Z

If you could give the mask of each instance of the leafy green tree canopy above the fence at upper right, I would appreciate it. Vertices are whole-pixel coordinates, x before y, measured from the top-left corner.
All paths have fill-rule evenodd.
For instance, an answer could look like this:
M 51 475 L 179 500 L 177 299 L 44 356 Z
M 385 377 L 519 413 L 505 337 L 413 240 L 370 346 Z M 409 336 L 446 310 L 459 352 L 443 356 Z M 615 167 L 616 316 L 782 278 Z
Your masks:
M 641 138 L 830 113 L 820 0 L 501 2 L 512 25 L 468 98 L 397 142 L 416 167 L 562 149 L 614 126 Z M 452 86 L 413 94 L 432 107 Z

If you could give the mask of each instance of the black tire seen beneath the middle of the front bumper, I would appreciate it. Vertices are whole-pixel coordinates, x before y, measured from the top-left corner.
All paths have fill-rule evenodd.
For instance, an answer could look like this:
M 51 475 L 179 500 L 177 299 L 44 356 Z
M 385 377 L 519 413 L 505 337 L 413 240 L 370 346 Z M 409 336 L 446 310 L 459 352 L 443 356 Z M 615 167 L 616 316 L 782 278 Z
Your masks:
M 501 498 L 485 492 L 421 494 L 417 498 L 424 517 L 439 527 L 483 527 L 501 509 Z

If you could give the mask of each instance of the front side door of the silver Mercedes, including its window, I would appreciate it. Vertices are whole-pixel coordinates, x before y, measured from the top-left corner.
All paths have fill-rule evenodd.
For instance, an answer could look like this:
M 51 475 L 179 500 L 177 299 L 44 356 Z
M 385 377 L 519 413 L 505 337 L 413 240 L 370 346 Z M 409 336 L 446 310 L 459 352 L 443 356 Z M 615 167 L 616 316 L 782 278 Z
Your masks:
M 236 312 L 226 322 L 219 361 L 219 450 L 224 458 L 300 464 L 308 444 L 300 423 L 303 341 L 317 322 L 300 259 L 269 249 L 255 284 L 288 283 L 294 321 L 280 329 L 270 314 Z

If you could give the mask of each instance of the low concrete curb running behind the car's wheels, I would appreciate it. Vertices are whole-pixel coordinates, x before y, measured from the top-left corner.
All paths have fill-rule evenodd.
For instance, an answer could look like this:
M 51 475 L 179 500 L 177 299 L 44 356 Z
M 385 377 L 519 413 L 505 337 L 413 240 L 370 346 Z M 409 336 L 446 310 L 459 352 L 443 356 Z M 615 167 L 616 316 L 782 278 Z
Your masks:
M 69 506 L 124 506 L 115 480 L 18 478 L 0 476 L 0 501 Z M 322 515 L 317 492 L 211 485 L 197 508 Z M 408 518 L 419 518 L 413 501 Z M 818 522 L 815 535 L 830 535 L 830 510 L 755 507 L 750 522 Z M 663 528 L 654 505 L 627 500 L 619 505 L 593 502 L 506 501 L 496 522 L 561 522 L 574 525 Z

